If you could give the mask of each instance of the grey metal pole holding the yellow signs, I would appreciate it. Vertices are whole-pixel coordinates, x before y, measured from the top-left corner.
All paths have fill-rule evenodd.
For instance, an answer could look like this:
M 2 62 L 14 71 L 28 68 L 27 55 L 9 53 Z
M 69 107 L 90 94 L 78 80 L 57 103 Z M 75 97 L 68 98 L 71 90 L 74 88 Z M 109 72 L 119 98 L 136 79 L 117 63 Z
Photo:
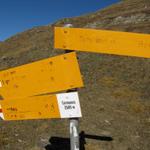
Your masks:
M 72 24 L 66 24 L 64 27 L 70 28 L 73 27 Z M 72 52 L 66 51 L 66 53 Z M 77 91 L 77 89 L 76 89 Z M 79 118 L 70 118 L 70 149 L 71 150 L 80 150 L 80 141 L 79 141 Z

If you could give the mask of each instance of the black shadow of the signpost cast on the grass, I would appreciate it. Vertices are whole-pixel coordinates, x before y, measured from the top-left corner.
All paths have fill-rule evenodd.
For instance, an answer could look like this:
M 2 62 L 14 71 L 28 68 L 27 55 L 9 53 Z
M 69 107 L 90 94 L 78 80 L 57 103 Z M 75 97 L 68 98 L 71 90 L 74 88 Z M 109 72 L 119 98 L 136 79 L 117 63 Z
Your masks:
M 85 150 L 86 139 L 94 139 L 99 141 L 112 141 L 113 138 L 109 136 L 97 136 L 85 134 L 84 131 L 80 133 L 80 150 Z M 51 137 L 50 144 L 46 145 L 46 150 L 70 150 L 70 139 L 61 137 Z

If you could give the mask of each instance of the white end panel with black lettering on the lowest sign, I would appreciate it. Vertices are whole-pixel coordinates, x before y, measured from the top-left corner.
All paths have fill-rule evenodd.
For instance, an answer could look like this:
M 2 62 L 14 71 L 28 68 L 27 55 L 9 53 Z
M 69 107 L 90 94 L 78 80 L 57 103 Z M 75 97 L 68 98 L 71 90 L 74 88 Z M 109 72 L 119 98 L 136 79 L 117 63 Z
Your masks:
M 61 118 L 82 117 L 78 92 L 57 94 Z

